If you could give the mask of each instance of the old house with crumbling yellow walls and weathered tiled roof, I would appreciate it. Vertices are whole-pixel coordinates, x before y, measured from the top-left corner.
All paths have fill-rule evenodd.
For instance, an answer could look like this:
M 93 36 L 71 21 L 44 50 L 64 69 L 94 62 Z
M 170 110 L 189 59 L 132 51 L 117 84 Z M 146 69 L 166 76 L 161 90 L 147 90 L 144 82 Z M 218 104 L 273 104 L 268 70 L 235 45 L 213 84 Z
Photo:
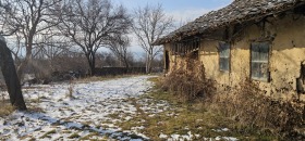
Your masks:
M 249 78 L 267 95 L 305 100 L 305 0 L 235 0 L 154 44 L 167 73 L 193 54 L 220 87 Z

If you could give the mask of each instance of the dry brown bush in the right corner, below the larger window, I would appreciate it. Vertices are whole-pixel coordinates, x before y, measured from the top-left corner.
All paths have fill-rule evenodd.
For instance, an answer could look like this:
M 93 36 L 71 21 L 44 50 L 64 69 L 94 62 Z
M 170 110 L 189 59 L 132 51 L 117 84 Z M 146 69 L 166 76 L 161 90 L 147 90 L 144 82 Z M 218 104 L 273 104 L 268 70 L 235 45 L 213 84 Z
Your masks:
M 305 103 L 297 99 L 282 101 L 266 97 L 248 79 L 240 82 L 240 88 L 218 92 L 213 98 L 207 105 L 242 125 L 267 129 L 282 138 L 305 139 L 296 132 L 305 126 Z

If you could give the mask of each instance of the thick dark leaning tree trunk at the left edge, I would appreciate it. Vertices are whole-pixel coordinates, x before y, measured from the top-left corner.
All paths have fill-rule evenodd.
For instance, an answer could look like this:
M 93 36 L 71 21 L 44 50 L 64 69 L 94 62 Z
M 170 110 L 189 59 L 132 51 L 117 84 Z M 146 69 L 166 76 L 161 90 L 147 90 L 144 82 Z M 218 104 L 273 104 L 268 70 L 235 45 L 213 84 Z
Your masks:
M 0 66 L 8 87 L 10 101 L 17 110 L 25 111 L 26 105 L 22 95 L 20 79 L 16 74 L 14 60 L 5 39 L 0 37 Z

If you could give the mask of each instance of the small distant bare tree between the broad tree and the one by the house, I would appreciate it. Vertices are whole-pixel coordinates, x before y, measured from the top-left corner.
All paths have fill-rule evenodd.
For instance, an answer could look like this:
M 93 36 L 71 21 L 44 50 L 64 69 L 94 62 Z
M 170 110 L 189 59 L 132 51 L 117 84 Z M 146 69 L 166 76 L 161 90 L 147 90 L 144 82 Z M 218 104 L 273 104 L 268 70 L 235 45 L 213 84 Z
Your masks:
M 129 47 L 131 46 L 131 40 L 126 36 L 119 36 L 117 40 L 112 40 L 108 47 L 110 51 L 118 57 L 118 60 L 124 64 L 124 67 L 130 67 L 131 52 L 129 52 Z

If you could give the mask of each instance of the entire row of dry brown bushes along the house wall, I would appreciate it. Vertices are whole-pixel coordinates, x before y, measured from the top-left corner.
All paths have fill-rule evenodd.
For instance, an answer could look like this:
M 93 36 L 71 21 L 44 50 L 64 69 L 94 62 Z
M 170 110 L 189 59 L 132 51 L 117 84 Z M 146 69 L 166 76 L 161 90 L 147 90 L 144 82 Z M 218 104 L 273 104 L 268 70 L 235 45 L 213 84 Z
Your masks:
M 239 87 L 217 91 L 216 81 L 206 78 L 205 67 L 197 60 L 187 57 L 173 66 L 162 88 L 182 100 L 200 99 L 208 110 L 233 118 L 243 127 L 261 128 L 282 139 L 305 140 L 304 131 L 297 130 L 305 127 L 304 102 L 266 97 L 249 79 Z

